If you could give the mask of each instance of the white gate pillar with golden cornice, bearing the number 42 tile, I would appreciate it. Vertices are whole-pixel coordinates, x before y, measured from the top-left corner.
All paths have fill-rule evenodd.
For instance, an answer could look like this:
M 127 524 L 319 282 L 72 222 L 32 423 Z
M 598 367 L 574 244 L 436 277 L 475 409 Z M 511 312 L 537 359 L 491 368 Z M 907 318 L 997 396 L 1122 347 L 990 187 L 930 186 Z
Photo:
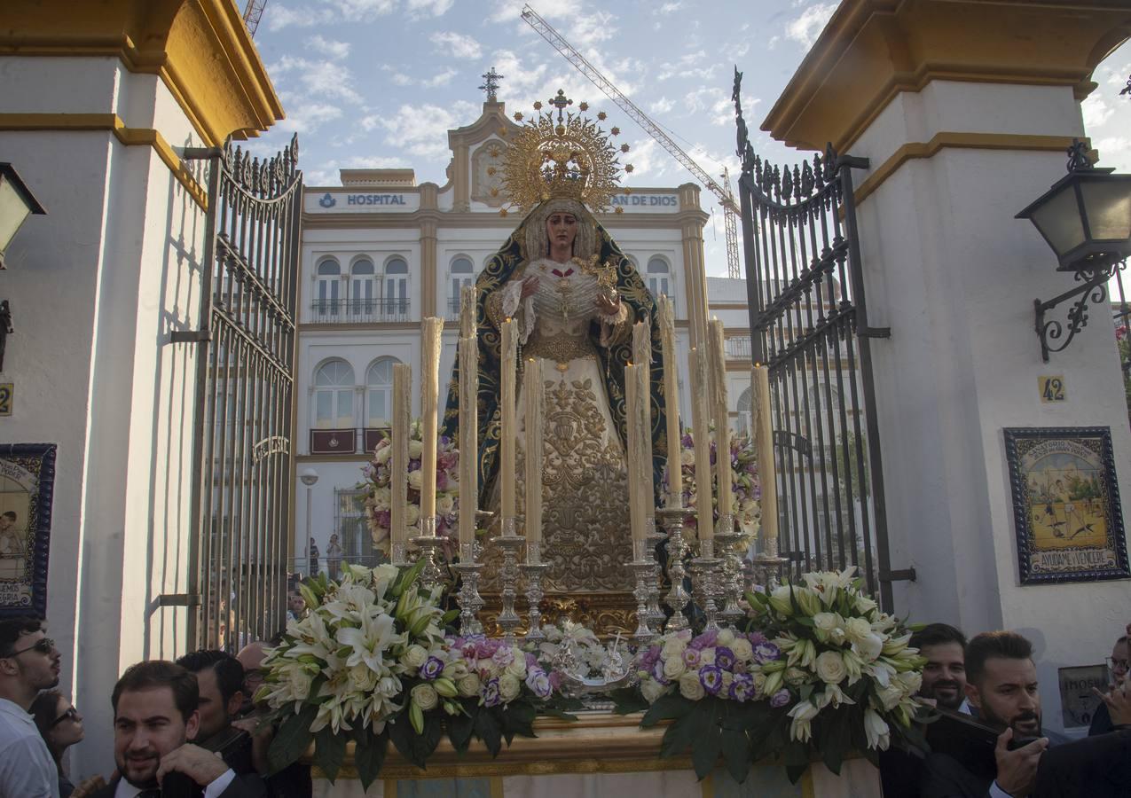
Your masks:
M 1052 727 L 1056 668 L 1102 661 L 1131 582 L 1020 584 L 1002 430 L 1110 426 L 1126 501 L 1131 428 L 1105 306 L 1042 362 L 1033 301 L 1077 284 L 1013 216 L 1064 175 L 1093 69 L 1129 33 L 1117 0 L 844 0 L 762 125 L 870 161 L 856 198 L 869 322 L 891 328 L 872 344 L 891 566 L 917 574 L 897 609 L 1034 640 Z M 1048 374 L 1067 401 L 1042 402 Z

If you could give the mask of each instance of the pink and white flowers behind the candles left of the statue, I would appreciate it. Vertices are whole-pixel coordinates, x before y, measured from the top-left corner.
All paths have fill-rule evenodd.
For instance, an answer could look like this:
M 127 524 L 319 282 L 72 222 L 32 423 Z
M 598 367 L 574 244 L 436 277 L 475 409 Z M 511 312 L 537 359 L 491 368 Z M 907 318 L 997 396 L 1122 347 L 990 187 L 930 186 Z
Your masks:
M 405 519 L 409 529 L 420 535 L 421 515 L 421 422 L 412 423 L 408 433 L 408 508 Z M 373 449 L 373 460 L 362 467 L 364 480 L 359 487 L 366 489 L 365 519 L 374 546 L 389 549 L 392 491 L 392 436 L 388 433 Z M 459 529 L 459 450 L 455 442 L 441 435 L 435 458 L 435 534 L 452 539 Z M 413 532 L 409 532 L 409 537 Z

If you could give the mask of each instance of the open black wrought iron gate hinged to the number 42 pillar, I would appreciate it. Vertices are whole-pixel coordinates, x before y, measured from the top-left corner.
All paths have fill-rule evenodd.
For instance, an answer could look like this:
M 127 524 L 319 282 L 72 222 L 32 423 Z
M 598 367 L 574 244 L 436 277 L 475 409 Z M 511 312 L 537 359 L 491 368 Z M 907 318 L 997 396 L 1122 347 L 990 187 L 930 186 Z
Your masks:
M 769 367 L 779 544 L 795 576 L 856 565 L 891 609 L 852 170 L 831 145 L 802 166 L 754 155 L 735 70 L 734 110 L 746 294 L 754 363 Z

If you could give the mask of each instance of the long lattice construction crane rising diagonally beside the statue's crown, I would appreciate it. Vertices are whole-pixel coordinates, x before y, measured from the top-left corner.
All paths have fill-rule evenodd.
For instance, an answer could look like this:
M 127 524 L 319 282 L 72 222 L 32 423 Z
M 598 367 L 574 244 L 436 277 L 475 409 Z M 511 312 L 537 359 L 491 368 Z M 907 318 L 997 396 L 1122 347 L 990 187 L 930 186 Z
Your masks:
M 637 124 L 645 129 L 645 131 L 651 136 L 661 147 L 666 149 L 672 157 L 679 161 L 688 172 L 696 176 L 700 183 L 702 183 L 708 191 L 718 198 L 719 205 L 723 206 L 723 220 L 724 227 L 726 229 L 726 274 L 728 277 L 741 278 L 742 269 L 739 266 L 739 225 L 737 225 L 737 214 L 739 208 L 734 202 L 734 192 L 731 190 L 729 174 L 723 172 L 723 181 L 726 183 L 724 189 L 719 185 L 703 168 L 697 164 L 690 155 L 683 151 L 680 145 L 675 144 L 667 133 L 661 129 L 658 124 L 651 121 L 651 119 L 637 107 L 636 103 L 625 97 L 619 88 L 616 88 L 612 83 L 608 81 L 601 71 L 589 63 L 586 58 L 579 53 L 573 46 L 566 41 L 566 38 L 554 31 L 554 28 L 545 19 L 538 16 L 538 14 L 529 6 L 523 7 L 523 19 L 526 24 L 538 32 L 544 40 L 550 42 L 550 44 L 560 52 L 567 61 L 573 64 L 581 75 L 589 78 L 593 84 L 599 88 L 605 95 L 616 103 L 616 106 L 631 116 Z

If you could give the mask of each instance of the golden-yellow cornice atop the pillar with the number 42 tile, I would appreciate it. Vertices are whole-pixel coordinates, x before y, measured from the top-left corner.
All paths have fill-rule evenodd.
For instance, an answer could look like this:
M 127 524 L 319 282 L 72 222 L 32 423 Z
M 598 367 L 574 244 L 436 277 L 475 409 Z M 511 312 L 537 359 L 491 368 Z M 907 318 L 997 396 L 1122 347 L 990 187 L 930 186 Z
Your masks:
M 893 97 L 933 80 L 1067 86 L 1082 98 L 1129 35 L 1125 0 L 844 0 L 762 130 L 845 151 Z

